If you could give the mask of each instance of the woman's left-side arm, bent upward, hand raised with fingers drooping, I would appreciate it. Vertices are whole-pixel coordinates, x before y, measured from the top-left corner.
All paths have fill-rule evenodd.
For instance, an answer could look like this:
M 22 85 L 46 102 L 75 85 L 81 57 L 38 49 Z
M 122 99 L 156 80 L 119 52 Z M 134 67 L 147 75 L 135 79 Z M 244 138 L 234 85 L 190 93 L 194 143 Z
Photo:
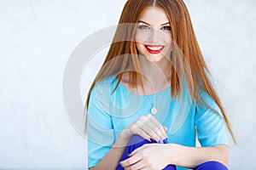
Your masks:
M 140 117 L 137 122 L 133 122 L 120 133 L 119 138 L 115 141 L 106 156 L 104 156 L 95 167 L 91 167 L 90 170 L 116 169 L 123 156 L 126 145 L 134 134 L 137 134 L 148 141 L 150 141 L 150 139 L 160 141 L 167 138 L 166 131 L 166 127 L 163 127 L 154 116 L 148 114 L 147 116 Z

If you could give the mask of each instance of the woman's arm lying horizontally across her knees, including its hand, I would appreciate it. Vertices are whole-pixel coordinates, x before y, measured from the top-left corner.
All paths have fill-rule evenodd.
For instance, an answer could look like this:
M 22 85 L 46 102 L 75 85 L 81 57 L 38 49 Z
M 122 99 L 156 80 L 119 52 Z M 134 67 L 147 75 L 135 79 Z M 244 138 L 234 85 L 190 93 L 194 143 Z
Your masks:
M 144 144 L 120 163 L 128 169 L 163 169 L 169 164 L 195 168 L 205 161 L 219 161 L 227 166 L 228 154 L 228 147 L 224 144 L 201 148 L 180 144 Z

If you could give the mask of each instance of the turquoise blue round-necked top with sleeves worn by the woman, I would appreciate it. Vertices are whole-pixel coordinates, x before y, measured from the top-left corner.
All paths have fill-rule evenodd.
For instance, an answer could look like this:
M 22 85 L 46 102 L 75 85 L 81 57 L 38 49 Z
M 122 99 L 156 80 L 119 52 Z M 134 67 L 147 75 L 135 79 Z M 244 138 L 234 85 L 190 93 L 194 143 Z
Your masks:
M 181 100 L 172 100 L 171 88 L 153 95 L 137 95 L 119 83 L 112 93 L 116 83 L 116 77 L 111 76 L 97 83 L 91 91 L 87 112 L 88 167 L 101 161 L 125 127 L 150 114 L 154 103 L 158 111 L 154 116 L 168 128 L 169 143 L 195 146 L 196 128 L 202 147 L 228 144 L 222 116 L 207 107 L 196 107 L 185 88 Z M 212 98 L 207 94 L 202 94 L 202 97 L 207 105 L 221 113 Z

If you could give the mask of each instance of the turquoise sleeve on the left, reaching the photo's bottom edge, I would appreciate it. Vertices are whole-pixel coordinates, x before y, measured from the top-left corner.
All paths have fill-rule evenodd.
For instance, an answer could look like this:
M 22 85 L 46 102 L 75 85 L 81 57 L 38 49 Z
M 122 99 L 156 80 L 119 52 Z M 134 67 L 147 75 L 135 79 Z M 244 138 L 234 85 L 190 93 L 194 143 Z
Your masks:
M 95 167 L 114 141 L 112 118 L 108 113 L 105 89 L 94 88 L 87 111 L 88 168 Z

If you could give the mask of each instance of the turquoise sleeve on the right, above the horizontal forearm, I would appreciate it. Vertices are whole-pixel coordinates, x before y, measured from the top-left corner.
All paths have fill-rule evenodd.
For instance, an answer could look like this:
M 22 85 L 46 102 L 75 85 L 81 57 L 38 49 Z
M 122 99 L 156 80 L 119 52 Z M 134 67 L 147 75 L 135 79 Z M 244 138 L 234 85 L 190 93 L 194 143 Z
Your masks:
M 217 144 L 228 144 L 226 137 L 226 127 L 223 114 L 216 102 L 206 93 L 202 94 L 205 100 L 214 111 L 209 107 L 199 105 L 195 112 L 195 127 L 198 130 L 198 140 L 202 147 Z

